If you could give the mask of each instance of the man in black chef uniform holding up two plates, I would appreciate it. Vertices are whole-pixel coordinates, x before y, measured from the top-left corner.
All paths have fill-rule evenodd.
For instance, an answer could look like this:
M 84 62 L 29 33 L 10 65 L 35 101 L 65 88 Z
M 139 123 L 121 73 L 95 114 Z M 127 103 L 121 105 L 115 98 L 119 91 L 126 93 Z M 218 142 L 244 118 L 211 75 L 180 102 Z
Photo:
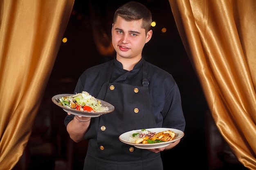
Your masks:
M 75 93 L 87 91 L 113 106 L 112 113 L 100 117 L 65 119 L 71 139 L 88 139 L 84 170 L 162 170 L 160 151 L 139 149 L 119 141 L 124 132 L 156 127 L 184 131 L 180 92 L 173 77 L 141 56 L 151 39 L 150 11 L 138 2 L 119 7 L 112 24 L 114 60 L 88 68 L 79 78 Z

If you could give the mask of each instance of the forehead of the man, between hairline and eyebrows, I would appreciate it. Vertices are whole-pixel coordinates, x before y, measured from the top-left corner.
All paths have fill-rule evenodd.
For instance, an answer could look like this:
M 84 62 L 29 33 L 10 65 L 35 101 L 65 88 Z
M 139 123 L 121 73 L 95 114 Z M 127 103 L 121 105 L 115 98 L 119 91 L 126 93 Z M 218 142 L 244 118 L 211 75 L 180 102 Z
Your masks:
M 120 16 L 117 17 L 117 20 L 114 23 L 114 29 L 115 28 L 122 29 L 124 31 L 145 31 L 145 29 L 142 28 L 142 19 L 127 21 Z

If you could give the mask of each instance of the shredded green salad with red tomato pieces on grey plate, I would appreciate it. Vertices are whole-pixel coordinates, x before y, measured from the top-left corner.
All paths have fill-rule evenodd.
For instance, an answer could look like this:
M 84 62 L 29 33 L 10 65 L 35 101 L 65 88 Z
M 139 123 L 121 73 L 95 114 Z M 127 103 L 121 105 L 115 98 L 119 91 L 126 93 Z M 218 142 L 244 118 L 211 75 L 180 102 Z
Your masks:
M 82 93 L 76 93 L 71 96 L 61 97 L 59 101 L 59 104 L 76 110 L 83 110 L 87 112 L 108 111 L 108 107 L 102 106 L 101 101 L 86 91 L 82 91 Z

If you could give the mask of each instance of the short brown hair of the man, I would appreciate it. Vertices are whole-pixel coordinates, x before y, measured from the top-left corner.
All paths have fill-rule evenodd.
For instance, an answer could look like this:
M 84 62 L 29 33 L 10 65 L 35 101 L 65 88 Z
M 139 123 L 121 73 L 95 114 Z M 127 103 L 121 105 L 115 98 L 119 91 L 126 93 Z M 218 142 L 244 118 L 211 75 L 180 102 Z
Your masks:
M 126 21 L 142 19 L 142 28 L 145 29 L 146 33 L 150 30 L 152 14 L 139 2 L 127 2 L 119 7 L 114 15 L 114 24 L 118 16 L 124 18 Z

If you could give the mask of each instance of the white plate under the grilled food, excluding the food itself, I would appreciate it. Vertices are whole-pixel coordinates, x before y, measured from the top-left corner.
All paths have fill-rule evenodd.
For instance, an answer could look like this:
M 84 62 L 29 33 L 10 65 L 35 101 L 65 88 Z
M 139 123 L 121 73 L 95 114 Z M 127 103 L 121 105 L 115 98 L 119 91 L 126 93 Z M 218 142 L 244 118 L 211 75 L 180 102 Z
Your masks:
M 181 139 L 184 136 L 184 132 L 182 132 L 181 130 L 178 130 L 178 129 L 173 129 L 173 128 L 148 128 L 146 130 L 149 130 L 150 132 L 155 132 L 155 133 L 162 132 L 165 130 L 171 130 L 176 133 L 176 136 L 171 141 L 159 142 L 159 143 L 155 143 L 155 144 L 131 143 L 130 137 L 132 137 L 133 133 L 139 133 L 141 131 L 141 129 L 139 129 L 139 130 L 132 130 L 132 131 L 123 133 L 122 135 L 119 136 L 119 140 L 124 142 L 125 144 L 132 145 L 132 146 L 135 146 L 136 148 L 140 148 L 140 149 L 156 149 L 156 148 L 166 147 L 169 144 Z

